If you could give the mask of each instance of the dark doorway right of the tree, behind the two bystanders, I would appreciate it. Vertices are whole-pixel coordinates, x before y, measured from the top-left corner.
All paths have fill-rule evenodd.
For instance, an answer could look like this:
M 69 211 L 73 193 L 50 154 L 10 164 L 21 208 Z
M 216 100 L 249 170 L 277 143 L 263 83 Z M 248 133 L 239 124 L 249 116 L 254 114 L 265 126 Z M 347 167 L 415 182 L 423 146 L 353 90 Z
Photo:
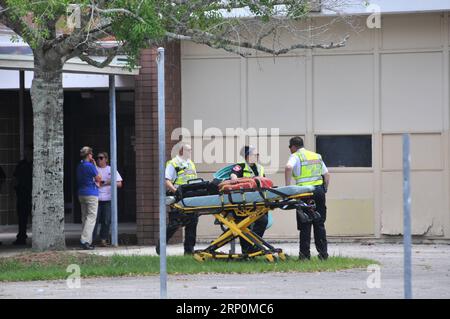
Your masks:
M 81 222 L 75 178 L 79 150 L 90 146 L 97 154 L 109 149 L 108 91 L 64 93 L 64 198 L 66 222 Z M 134 152 L 134 93 L 117 92 L 117 167 L 124 183 L 118 192 L 119 222 L 136 221 L 136 165 Z

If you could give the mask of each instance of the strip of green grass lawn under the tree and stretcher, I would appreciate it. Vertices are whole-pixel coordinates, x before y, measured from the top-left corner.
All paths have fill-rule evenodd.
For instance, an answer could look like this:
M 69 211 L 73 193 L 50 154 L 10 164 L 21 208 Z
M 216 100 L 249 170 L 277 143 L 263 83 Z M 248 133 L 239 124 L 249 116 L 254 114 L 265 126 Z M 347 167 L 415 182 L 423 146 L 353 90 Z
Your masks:
M 263 257 L 252 260 L 207 260 L 198 262 L 191 256 L 169 256 L 169 274 L 201 273 L 261 273 L 261 272 L 318 272 L 350 268 L 365 268 L 377 262 L 370 259 L 330 257 L 326 261 L 312 258 L 299 262 L 297 258 L 268 263 Z M 28 253 L 0 258 L 0 281 L 31 281 L 66 279 L 71 273 L 67 266 L 80 266 L 81 277 L 116 277 L 159 274 L 157 256 L 104 257 L 74 252 Z

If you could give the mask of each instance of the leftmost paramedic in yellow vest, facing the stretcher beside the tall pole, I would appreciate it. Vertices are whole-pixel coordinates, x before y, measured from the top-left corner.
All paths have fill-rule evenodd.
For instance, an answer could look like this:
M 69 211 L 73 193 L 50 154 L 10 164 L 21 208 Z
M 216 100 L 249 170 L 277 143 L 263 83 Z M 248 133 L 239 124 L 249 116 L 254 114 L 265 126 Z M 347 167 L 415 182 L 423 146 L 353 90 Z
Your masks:
M 175 193 L 178 186 L 187 184 L 191 179 L 197 178 L 194 162 L 191 160 L 192 148 L 189 144 L 183 144 L 178 155 L 166 164 L 166 188 L 169 193 Z M 194 253 L 197 237 L 198 216 L 196 214 L 180 214 L 177 211 L 169 211 L 169 224 L 167 226 L 167 242 L 180 227 L 185 227 L 184 232 L 184 254 Z M 159 255 L 159 242 L 156 245 Z

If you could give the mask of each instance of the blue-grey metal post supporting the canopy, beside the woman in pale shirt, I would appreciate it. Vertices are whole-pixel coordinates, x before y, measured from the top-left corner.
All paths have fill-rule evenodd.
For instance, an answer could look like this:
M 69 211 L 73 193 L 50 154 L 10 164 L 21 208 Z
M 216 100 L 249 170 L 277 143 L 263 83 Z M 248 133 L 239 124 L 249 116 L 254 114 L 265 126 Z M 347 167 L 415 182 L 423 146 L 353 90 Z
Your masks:
M 111 150 L 111 245 L 118 246 L 117 236 L 117 139 L 116 139 L 116 83 L 109 76 L 109 144 Z

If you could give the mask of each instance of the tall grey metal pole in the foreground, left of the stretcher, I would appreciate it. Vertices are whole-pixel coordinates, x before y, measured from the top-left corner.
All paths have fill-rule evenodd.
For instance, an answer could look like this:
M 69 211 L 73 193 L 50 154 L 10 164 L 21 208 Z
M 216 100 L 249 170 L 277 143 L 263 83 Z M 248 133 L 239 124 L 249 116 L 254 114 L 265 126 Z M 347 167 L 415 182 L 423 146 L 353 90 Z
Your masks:
M 167 257 L 166 257 L 166 114 L 164 110 L 164 48 L 158 48 L 158 139 L 159 139 L 159 242 L 160 242 L 160 298 L 167 298 Z

